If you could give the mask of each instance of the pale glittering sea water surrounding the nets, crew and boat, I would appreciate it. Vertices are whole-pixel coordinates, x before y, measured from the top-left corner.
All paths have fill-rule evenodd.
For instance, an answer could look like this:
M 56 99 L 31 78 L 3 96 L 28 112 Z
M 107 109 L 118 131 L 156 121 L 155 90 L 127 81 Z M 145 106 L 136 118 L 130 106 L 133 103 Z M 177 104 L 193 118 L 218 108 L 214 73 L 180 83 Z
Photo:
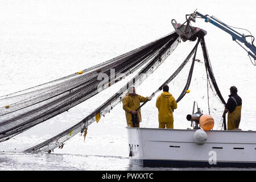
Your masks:
M 81 71 L 167 35 L 173 31 L 171 19 L 183 23 L 185 14 L 195 9 L 202 14 L 214 15 L 231 26 L 247 28 L 253 35 L 256 33 L 255 24 L 252 23 L 256 5 L 253 0 L 247 1 L 246 5 L 232 1 L 233 6 L 229 1 L 207 4 L 197 1 L 195 5 L 191 1 L 144 0 L 0 1 L 0 5 L 1 96 Z M 256 68 L 230 35 L 201 19 L 194 26 L 208 32 L 205 41 L 214 76 L 225 100 L 228 99 L 230 86 L 236 85 L 238 88 L 243 100 L 241 129 L 256 130 Z M 137 93 L 149 96 L 154 92 L 176 70 L 194 44 L 181 43 L 163 65 L 137 88 Z M 203 60 L 200 51 L 197 55 L 197 59 Z M 170 84 L 170 92 L 175 97 L 184 88 L 188 69 L 189 66 L 184 68 Z M 117 92 L 125 81 L 118 82 L 68 112 L 0 143 L 0 170 L 181 170 L 142 168 L 129 163 L 125 114 L 121 104 L 101 118 L 100 122 L 92 123 L 85 140 L 77 134 L 62 149 L 56 148 L 51 154 L 22 152 L 81 121 Z M 205 88 L 205 68 L 198 63 L 189 88 L 191 93 L 179 102 L 175 111 L 176 129 L 190 127 L 185 116 L 192 112 L 193 101 L 197 101 L 203 113 L 207 113 Z M 158 127 L 155 99 L 143 107 L 141 127 Z M 216 107 L 218 112 L 214 117 L 217 121 L 224 108 L 220 105 Z

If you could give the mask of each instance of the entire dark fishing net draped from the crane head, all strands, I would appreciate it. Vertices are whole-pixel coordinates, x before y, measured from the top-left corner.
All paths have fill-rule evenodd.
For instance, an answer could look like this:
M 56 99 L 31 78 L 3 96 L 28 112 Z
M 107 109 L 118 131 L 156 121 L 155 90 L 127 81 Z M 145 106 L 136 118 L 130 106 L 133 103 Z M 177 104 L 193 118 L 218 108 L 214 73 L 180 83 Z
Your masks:
M 0 105 L 0 142 L 10 139 L 11 137 L 14 137 L 14 135 L 38 125 L 38 123 L 55 117 L 56 115 L 63 113 L 71 107 L 76 106 L 77 104 L 80 104 L 88 98 L 96 95 L 100 92 L 98 85 L 102 82 L 101 80 L 98 80 L 98 75 L 100 73 L 106 74 L 109 78 L 104 82 L 104 85 L 111 83 L 108 84 L 108 86 L 102 87 L 102 89 L 106 89 L 115 82 L 121 80 L 115 79 L 118 77 L 118 74 L 122 73 L 121 78 L 123 78 L 144 66 L 141 71 L 139 71 L 137 75 L 127 82 L 127 84 L 125 84 L 117 93 L 106 100 L 104 104 L 99 106 L 86 118 L 82 119 L 79 123 L 62 133 L 57 134 L 55 137 L 52 137 L 34 147 L 28 148 L 24 152 L 51 152 L 56 147 L 63 147 L 65 141 L 78 133 L 84 133 L 85 137 L 87 127 L 94 121 L 100 119 L 100 117 L 105 117 L 105 114 L 109 113 L 114 106 L 122 101 L 122 98 L 131 86 L 139 86 L 149 75 L 151 75 L 151 73 L 153 73 L 155 69 L 157 69 L 159 65 L 162 64 L 163 61 L 174 51 L 179 42 L 179 35 L 177 35 L 176 32 L 172 32 L 171 34 L 146 44 L 145 46 L 134 49 L 133 51 L 127 52 L 109 61 L 105 61 L 104 63 L 98 64 L 94 67 L 84 69 L 81 71 L 82 74 L 74 73 L 46 84 L 0 97 L 0 104 L 2 103 Z M 222 104 L 225 104 L 213 75 L 207 48 L 205 46 L 204 36 L 199 36 L 195 47 L 193 47 L 192 51 L 183 63 L 181 63 L 180 67 L 177 68 L 170 78 L 159 86 L 155 93 L 162 90 L 163 85 L 170 83 L 193 56 L 187 83 L 185 84 L 180 96 L 177 98 L 177 102 L 185 96 L 191 82 L 199 43 L 201 43 L 201 47 L 203 49 L 209 89 L 211 89 L 214 96 L 219 98 Z M 112 69 L 115 71 L 114 74 L 111 72 Z M 5 107 L 5 105 L 7 105 L 6 103 L 9 104 L 9 108 Z M 147 102 L 144 102 L 143 105 L 146 103 Z M 208 94 L 208 106 L 209 105 Z

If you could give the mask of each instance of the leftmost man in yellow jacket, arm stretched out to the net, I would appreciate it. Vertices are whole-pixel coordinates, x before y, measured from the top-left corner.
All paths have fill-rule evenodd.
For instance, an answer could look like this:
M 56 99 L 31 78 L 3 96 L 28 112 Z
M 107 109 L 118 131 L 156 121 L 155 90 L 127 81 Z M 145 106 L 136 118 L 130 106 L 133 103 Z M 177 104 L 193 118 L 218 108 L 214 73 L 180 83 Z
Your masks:
M 127 127 L 139 127 L 139 122 L 142 119 L 141 109 L 138 109 L 138 107 L 141 105 L 140 102 L 145 102 L 147 99 L 150 100 L 149 97 L 139 96 L 135 87 L 130 88 L 126 96 L 123 97 L 123 110 L 125 110 Z

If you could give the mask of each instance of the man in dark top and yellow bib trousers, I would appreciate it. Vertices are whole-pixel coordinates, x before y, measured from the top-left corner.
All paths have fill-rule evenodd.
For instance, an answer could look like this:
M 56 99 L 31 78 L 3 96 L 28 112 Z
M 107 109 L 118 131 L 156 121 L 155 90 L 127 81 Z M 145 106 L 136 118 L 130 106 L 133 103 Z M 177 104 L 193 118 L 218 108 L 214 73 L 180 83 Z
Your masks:
M 230 87 L 230 95 L 225 105 L 223 118 L 228 113 L 228 130 L 238 129 L 241 119 L 242 99 L 237 94 L 236 86 Z

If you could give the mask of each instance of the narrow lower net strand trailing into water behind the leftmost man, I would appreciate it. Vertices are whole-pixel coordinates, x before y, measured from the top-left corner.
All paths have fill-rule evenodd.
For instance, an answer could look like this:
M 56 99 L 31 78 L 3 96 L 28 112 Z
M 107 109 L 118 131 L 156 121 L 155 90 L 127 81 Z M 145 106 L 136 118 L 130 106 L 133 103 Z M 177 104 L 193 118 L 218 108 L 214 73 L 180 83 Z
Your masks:
M 87 127 L 94 121 L 98 121 L 102 116 L 105 117 L 105 114 L 109 113 L 119 102 L 122 101 L 122 98 L 125 96 L 131 86 L 140 85 L 152 72 L 154 72 L 160 64 L 174 51 L 179 43 L 179 36 L 174 33 L 172 34 L 171 40 L 169 40 L 162 48 L 159 49 L 159 52 L 152 57 L 150 61 L 142 68 L 137 75 L 135 75 L 127 84 L 125 84 L 117 93 L 110 97 L 107 101 L 99 106 L 96 110 L 90 113 L 86 118 L 82 119 L 76 125 L 70 127 L 69 129 L 63 131 L 62 133 L 52 137 L 45 142 L 42 142 L 34 147 L 28 148 L 24 152 L 39 152 L 39 151 L 48 151 L 51 152 L 56 147 L 63 147 L 63 144 L 68 139 L 72 138 L 78 133 L 84 133 L 86 136 Z

